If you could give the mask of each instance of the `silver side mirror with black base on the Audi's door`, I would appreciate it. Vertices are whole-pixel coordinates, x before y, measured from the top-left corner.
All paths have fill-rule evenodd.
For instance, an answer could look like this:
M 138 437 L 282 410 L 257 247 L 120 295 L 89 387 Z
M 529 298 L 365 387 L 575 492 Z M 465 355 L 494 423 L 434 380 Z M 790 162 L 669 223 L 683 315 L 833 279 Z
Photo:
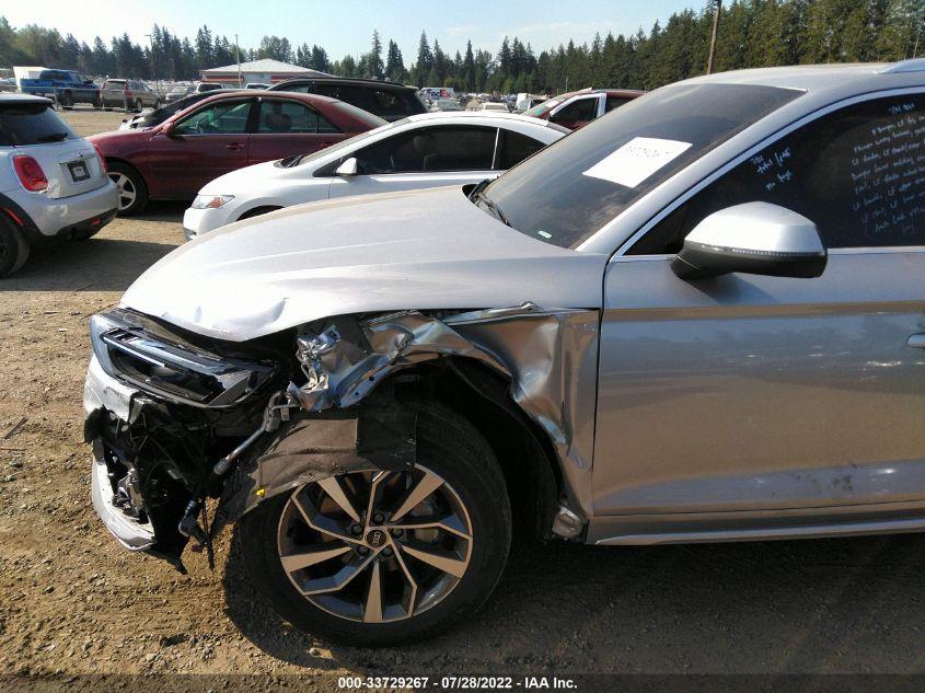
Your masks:
M 777 205 L 747 203 L 701 221 L 671 263 L 681 279 L 732 272 L 772 277 L 818 277 L 828 254 L 806 217 Z

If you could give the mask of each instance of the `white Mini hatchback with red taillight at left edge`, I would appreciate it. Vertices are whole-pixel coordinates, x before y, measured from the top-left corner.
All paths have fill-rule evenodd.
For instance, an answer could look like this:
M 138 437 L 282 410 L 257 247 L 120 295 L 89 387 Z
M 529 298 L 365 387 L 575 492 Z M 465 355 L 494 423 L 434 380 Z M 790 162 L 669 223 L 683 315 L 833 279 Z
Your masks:
M 0 278 L 33 247 L 94 235 L 117 206 L 102 158 L 50 100 L 0 94 Z

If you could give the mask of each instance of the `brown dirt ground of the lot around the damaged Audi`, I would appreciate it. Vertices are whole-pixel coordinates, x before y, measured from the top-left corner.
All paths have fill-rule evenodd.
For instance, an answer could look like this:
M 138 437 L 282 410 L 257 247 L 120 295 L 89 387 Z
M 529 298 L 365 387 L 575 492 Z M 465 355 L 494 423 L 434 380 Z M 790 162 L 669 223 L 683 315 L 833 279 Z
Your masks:
M 89 134 L 122 114 L 74 112 Z M 229 533 L 189 575 L 96 521 L 81 393 L 88 316 L 182 242 L 183 205 L 35 255 L 0 285 L 0 674 L 925 672 L 925 536 L 652 548 L 518 546 L 461 628 L 333 647 L 255 597 Z M 27 417 L 12 435 L 9 431 Z

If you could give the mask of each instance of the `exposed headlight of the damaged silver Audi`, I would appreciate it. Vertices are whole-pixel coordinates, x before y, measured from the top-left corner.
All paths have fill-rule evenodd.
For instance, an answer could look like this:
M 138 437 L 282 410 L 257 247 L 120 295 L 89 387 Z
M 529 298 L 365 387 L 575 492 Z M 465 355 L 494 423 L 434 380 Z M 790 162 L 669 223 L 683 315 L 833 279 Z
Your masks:
M 166 400 L 233 406 L 277 372 L 267 360 L 219 355 L 189 344 L 138 313 L 116 309 L 90 320 L 93 353 L 113 378 Z

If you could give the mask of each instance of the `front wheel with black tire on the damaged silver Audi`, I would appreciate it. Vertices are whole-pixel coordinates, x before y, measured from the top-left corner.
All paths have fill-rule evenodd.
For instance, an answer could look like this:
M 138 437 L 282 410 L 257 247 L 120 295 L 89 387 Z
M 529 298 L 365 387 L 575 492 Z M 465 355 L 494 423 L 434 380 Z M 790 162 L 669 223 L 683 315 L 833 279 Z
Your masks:
M 338 474 L 244 516 L 244 563 L 284 619 L 344 645 L 392 646 L 447 630 L 489 597 L 511 538 L 495 455 L 432 403 L 419 407 L 417 444 L 413 470 Z

